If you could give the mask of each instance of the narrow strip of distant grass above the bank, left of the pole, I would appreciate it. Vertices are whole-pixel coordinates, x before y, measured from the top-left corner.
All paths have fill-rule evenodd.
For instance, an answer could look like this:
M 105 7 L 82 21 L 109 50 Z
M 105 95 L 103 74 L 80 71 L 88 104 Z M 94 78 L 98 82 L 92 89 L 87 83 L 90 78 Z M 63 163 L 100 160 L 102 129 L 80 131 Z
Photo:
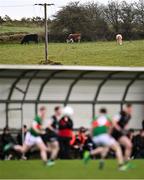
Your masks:
M 0 34 L 3 33 L 17 33 L 17 32 L 27 32 L 27 33 L 38 33 L 38 32 L 43 32 L 44 28 L 43 27 L 23 27 L 23 26 L 0 26 Z

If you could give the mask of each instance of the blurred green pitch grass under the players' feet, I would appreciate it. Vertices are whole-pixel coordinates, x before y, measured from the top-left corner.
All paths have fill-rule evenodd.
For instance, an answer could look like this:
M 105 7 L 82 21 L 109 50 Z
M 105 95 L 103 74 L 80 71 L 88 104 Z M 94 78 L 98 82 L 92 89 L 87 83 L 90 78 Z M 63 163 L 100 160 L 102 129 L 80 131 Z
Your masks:
M 80 160 L 57 161 L 45 167 L 41 161 L 0 162 L 0 179 L 143 179 L 144 161 L 133 161 L 134 168 L 120 172 L 115 160 L 106 160 L 104 170 L 98 170 L 98 161 L 84 165 Z

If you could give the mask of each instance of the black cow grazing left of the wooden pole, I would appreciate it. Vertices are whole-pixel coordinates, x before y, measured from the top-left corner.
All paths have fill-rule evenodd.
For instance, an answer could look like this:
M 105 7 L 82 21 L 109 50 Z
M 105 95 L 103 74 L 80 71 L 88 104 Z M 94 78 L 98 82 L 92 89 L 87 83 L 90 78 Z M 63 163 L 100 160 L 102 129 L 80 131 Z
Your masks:
M 21 44 L 29 44 L 30 42 L 38 43 L 38 35 L 37 34 L 25 35 L 21 41 Z

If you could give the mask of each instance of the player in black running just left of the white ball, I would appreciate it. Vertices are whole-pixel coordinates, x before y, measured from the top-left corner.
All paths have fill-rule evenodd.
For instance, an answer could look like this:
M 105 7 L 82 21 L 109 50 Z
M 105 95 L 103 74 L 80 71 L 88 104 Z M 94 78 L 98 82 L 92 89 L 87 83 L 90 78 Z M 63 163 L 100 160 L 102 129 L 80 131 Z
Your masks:
M 44 142 L 48 145 L 50 150 L 49 165 L 54 165 L 54 160 L 58 156 L 59 142 L 58 142 L 58 122 L 61 118 L 62 110 L 60 106 L 55 107 L 54 115 L 48 120 L 46 124 L 46 133 L 42 135 Z

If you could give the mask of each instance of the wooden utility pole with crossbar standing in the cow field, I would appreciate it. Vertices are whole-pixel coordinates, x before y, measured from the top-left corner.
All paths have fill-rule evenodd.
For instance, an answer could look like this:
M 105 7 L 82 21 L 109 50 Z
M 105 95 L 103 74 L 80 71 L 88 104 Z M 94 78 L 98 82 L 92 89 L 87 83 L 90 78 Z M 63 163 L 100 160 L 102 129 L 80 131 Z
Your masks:
M 48 24 L 47 24 L 47 6 L 53 6 L 54 4 L 35 4 L 36 6 L 44 7 L 44 21 L 45 21 L 45 64 L 48 64 Z

